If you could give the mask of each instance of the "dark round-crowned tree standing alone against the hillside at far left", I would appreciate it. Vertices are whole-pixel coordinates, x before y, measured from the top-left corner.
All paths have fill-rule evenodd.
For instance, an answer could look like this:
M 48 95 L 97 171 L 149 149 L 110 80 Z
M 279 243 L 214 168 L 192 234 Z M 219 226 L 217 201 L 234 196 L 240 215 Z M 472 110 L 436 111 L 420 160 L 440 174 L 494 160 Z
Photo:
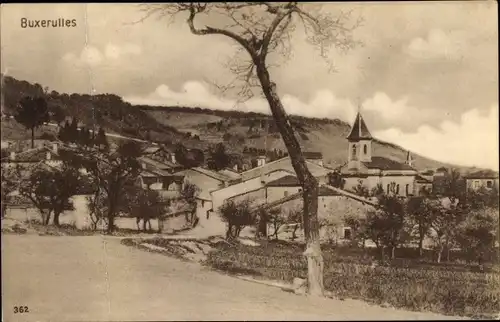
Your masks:
M 43 97 L 26 96 L 19 102 L 14 119 L 31 130 L 31 148 L 35 147 L 35 129 L 49 121 L 47 101 Z

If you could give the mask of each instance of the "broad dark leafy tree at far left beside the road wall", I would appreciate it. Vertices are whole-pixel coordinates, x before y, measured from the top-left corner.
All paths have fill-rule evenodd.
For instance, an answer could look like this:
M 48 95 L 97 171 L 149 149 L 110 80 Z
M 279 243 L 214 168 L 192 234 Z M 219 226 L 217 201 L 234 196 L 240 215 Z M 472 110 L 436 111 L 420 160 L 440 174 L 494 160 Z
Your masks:
M 74 210 L 71 197 L 78 192 L 79 173 L 73 167 L 38 169 L 21 184 L 19 192 L 29 198 L 40 211 L 43 224 L 48 225 L 54 213 L 54 225 L 65 210 Z

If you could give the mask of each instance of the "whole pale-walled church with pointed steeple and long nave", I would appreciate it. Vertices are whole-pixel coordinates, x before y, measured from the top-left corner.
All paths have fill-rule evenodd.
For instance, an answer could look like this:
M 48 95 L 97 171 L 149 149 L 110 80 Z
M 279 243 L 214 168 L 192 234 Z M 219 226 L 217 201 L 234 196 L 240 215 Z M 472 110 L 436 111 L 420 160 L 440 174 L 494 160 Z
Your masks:
M 371 191 L 380 184 L 386 193 L 393 191 L 402 197 L 419 194 L 420 176 L 412 166 L 410 153 L 404 163 L 373 156 L 373 137 L 360 112 L 356 115 L 347 142 L 348 161 L 340 168 L 344 189 L 352 191 L 361 183 Z

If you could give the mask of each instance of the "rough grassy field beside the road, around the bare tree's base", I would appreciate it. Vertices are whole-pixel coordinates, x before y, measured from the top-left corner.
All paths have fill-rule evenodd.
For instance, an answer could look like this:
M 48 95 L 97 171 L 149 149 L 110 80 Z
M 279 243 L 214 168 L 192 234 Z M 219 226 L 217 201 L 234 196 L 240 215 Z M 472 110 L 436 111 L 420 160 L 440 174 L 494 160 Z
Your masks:
M 209 254 L 207 264 L 226 272 L 245 271 L 291 282 L 295 277 L 306 277 L 302 251 L 302 245 L 283 242 L 264 242 L 260 247 L 219 244 Z M 463 264 L 441 269 L 411 260 L 405 265 L 396 261 L 371 267 L 370 257 L 349 257 L 345 253 L 326 247 L 323 252 L 325 288 L 338 297 L 469 317 L 491 317 L 500 311 L 498 272 L 473 272 Z

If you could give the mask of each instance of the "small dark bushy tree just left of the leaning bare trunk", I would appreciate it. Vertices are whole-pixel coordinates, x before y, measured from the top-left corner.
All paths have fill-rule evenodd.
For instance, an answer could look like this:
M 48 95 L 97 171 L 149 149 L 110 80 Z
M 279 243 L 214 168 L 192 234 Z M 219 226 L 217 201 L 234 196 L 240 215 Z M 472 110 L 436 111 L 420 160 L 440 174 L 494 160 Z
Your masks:
M 235 202 L 229 199 L 219 207 L 218 213 L 222 221 L 227 223 L 226 239 L 237 238 L 244 227 L 256 224 L 257 218 L 252 214 L 250 206 L 249 200 Z

